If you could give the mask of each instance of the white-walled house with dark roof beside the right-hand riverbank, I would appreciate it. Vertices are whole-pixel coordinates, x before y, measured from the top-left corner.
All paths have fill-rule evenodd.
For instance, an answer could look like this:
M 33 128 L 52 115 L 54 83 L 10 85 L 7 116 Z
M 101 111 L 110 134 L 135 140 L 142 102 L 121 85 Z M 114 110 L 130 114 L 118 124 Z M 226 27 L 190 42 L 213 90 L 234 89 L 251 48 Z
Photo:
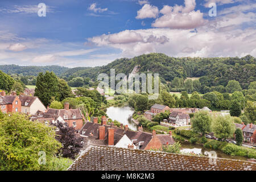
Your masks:
M 169 122 L 176 126 L 190 125 L 190 117 L 187 113 L 172 111 L 168 118 Z

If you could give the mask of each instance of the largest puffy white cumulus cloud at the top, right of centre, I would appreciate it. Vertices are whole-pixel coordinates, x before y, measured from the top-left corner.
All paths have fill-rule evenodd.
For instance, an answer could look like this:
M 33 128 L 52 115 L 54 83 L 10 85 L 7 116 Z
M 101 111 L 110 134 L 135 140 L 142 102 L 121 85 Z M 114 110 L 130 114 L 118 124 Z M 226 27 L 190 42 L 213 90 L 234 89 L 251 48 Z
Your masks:
M 202 26 L 206 20 L 200 10 L 195 11 L 196 1 L 185 0 L 185 6 L 164 6 L 160 13 L 163 14 L 152 23 L 152 27 L 191 29 Z

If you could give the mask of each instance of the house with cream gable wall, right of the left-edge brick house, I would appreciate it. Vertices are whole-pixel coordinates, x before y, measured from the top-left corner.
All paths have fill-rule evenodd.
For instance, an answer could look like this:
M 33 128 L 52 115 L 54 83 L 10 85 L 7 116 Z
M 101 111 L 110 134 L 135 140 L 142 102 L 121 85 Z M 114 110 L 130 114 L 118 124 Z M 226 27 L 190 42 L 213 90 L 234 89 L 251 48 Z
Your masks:
M 19 96 L 19 100 L 21 101 L 21 112 L 25 114 L 36 114 L 39 111 L 46 111 L 46 107 L 39 100 L 38 97 L 34 96 Z

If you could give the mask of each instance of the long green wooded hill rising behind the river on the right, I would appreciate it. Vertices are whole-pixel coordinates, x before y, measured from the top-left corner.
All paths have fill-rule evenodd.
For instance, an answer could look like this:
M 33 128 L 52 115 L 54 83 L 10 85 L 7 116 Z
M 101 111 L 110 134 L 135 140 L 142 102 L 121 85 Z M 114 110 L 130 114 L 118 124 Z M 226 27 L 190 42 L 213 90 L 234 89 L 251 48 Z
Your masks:
M 163 53 L 150 53 L 114 60 L 108 65 L 94 68 L 73 68 L 64 72 L 62 76 L 70 80 L 73 77 L 89 77 L 97 80 L 99 73 L 107 73 L 115 69 L 115 74 L 128 75 L 136 65 L 139 73 L 159 73 L 162 82 L 170 82 L 175 77 L 200 77 L 205 86 L 226 86 L 228 81 L 237 80 L 243 89 L 247 89 L 250 82 L 256 80 L 256 59 L 253 56 L 239 57 L 169 57 Z

